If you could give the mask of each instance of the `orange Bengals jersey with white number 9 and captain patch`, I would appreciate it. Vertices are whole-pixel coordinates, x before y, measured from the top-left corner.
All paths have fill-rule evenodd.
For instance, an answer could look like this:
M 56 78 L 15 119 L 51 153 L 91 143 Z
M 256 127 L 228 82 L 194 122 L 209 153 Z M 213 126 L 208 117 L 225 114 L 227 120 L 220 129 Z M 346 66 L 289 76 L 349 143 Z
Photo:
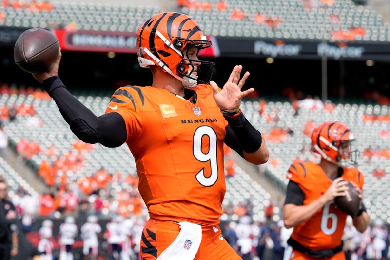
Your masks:
M 150 217 L 214 226 L 226 191 L 227 122 L 210 86 L 192 89 L 195 104 L 159 88 L 122 87 L 106 113 L 117 112 L 125 120 L 138 189 Z

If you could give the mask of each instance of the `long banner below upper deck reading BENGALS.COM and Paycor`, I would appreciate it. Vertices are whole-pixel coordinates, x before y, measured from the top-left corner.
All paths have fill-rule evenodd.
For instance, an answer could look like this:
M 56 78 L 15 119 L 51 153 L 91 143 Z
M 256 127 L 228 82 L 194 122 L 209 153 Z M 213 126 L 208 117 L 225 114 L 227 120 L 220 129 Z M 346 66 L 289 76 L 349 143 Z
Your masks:
M 0 46 L 14 46 L 28 28 L 0 27 Z M 137 53 L 135 32 L 52 31 L 64 51 Z M 322 42 L 320 40 L 282 40 L 250 37 L 207 36 L 213 45 L 202 49 L 203 57 L 291 58 L 331 60 L 390 60 L 390 44 L 384 42 Z

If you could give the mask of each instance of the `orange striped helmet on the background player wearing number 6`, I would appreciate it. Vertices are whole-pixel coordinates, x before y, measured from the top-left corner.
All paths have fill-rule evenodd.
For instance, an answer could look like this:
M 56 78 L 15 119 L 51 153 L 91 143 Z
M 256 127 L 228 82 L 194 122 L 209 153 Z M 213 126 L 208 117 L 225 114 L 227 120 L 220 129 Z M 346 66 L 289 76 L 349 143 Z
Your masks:
M 359 152 L 353 149 L 351 144 L 354 140 L 354 135 L 346 125 L 338 121 L 329 121 L 314 129 L 312 149 L 325 160 L 341 167 L 348 167 L 357 163 Z

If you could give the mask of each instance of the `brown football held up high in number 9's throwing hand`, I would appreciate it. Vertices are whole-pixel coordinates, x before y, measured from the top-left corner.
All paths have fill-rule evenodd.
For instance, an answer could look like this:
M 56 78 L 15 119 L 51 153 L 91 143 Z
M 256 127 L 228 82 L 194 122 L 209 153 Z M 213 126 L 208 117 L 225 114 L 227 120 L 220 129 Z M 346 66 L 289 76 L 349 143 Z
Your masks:
M 58 55 L 59 43 L 56 36 L 44 29 L 29 29 L 15 43 L 15 64 L 29 73 L 48 71 L 56 63 Z

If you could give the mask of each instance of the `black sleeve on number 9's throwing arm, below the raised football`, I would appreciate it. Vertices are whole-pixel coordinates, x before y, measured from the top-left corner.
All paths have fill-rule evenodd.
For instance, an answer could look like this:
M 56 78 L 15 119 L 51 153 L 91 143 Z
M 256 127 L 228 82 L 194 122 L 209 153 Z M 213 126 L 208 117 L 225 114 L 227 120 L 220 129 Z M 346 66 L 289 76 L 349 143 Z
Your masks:
M 56 101 L 62 117 L 80 140 L 99 142 L 107 147 L 118 147 L 126 141 L 126 125 L 121 115 L 111 112 L 97 117 L 66 89 L 59 77 L 48 78 L 42 85 Z

